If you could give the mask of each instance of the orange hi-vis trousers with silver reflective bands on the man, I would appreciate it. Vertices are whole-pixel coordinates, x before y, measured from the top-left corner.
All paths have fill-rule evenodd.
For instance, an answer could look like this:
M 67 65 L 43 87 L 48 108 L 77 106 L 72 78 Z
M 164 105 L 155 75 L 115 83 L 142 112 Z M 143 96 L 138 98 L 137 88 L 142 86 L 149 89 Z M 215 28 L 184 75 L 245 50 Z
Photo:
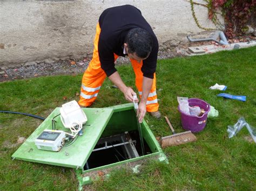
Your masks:
M 94 41 L 94 50 L 92 55 L 92 60 L 89 66 L 84 72 L 80 93 L 79 105 L 84 107 L 89 107 L 97 98 L 100 87 L 106 78 L 104 70 L 100 67 L 99 54 L 98 54 L 98 41 L 99 41 L 100 27 L 97 24 L 96 36 Z M 114 54 L 114 60 L 118 58 L 118 55 Z M 136 87 L 139 91 L 139 97 L 142 97 L 142 64 L 143 61 L 136 61 L 130 59 L 132 67 L 135 73 Z M 158 111 L 159 104 L 157 101 L 157 91 L 156 91 L 156 73 L 154 74 L 153 84 L 149 96 L 147 97 L 146 110 L 148 112 Z

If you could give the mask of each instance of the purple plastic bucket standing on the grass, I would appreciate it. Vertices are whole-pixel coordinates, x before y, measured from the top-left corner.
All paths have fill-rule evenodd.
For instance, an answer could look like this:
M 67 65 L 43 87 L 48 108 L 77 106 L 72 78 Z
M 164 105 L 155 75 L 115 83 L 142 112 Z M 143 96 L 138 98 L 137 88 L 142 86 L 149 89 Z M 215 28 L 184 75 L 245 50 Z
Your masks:
M 203 116 L 200 116 L 200 117 L 190 116 L 190 115 L 187 115 L 184 112 L 182 112 L 178 106 L 178 110 L 181 114 L 181 124 L 183 126 L 183 129 L 185 129 L 185 130 L 190 130 L 191 132 L 199 132 L 205 128 L 208 112 L 211 109 L 210 104 L 206 103 L 203 100 L 197 99 L 197 98 L 188 99 L 188 104 L 191 107 L 199 106 L 201 109 L 205 110 L 205 113 Z

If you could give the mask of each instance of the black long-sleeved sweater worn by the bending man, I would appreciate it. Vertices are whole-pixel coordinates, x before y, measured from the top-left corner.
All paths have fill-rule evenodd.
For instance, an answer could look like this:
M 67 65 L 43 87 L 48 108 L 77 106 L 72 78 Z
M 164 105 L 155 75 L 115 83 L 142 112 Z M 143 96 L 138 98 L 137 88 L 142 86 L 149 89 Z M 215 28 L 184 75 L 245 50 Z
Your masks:
M 98 42 L 99 60 L 107 76 L 116 72 L 114 54 L 123 53 L 126 34 L 134 28 L 141 28 L 152 36 L 153 46 L 149 57 L 143 60 L 143 76 L 153 79 L 157 67 L 158 41 L 151 26 L 146 22 L 139 9 L 132 5 L 116 6 L 103 11 L 99 17 L 100 35 Z

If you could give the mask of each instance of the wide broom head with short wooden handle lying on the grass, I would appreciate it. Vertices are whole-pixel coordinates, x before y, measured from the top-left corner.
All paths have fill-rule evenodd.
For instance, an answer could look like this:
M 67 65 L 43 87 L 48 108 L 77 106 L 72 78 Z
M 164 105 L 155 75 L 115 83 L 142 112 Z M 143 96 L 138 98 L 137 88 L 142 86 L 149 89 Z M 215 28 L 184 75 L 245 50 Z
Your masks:
M 164 118 L 165 118 L 167 124 L 169 125 L 173 135 L 161 137 L 160 143 L 161 143 L 162 148 L 165 148 L 167 146 L 185 144 L 188 142 L 195 142 L 197 140 L 197 137 L 194 136 L 194 134 L 191 131 L 175 133 L 169 119 L 166 116 Z

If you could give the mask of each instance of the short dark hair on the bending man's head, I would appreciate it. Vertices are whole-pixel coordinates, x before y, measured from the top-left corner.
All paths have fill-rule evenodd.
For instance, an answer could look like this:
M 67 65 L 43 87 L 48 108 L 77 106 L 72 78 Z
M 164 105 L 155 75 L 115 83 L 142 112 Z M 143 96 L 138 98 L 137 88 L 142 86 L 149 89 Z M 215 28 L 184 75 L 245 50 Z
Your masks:
M 125 39 L 129 53 L 136 53 L 139 58 L 146 58 L 152 50 L 152 37 L 144 29 L 131 29 Z

